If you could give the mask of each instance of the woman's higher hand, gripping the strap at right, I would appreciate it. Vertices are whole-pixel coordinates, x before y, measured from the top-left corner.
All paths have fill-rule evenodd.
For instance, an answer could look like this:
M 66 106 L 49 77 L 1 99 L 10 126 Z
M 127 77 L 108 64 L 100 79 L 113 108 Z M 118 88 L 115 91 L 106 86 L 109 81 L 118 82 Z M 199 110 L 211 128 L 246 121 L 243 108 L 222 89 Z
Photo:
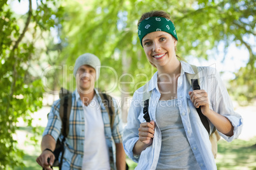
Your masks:
M 204 89 L 189 91 L 188 95 L 196 108 L 201 106 L 201 111 L 205 116 L 210 113 L 208 94 L 206 91 L 204 91 Z

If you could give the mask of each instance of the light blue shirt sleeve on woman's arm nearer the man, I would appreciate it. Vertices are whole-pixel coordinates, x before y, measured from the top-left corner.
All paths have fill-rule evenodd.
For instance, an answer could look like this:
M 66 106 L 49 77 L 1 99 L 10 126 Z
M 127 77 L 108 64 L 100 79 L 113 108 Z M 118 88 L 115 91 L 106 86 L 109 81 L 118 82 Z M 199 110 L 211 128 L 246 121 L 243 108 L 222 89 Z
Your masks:
M 139 89 L 138 89 L 139 90 Z M 127 126 L 124 129 L 124 150 L 130 159 L 138 163 L 139 155 L 134 157 L 132 152 L 135 143 L 139 140 L 139 125 L 141 122 L 138 119 L 138 115 L 141 112 L 141 100 L 142 95 L 136 91 L 132 97 L 131 105 L 127 117 Z

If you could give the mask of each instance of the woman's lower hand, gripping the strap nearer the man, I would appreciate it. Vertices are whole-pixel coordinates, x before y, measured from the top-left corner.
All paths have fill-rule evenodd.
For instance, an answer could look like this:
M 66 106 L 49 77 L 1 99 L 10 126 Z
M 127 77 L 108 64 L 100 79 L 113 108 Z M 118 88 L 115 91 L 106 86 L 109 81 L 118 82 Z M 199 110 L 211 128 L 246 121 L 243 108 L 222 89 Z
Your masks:
M 155 122 L 143 122 L 139 126 L 139 141 L 143 142 L 146 147 L 152 144 L 153 135 L 155 134 Z

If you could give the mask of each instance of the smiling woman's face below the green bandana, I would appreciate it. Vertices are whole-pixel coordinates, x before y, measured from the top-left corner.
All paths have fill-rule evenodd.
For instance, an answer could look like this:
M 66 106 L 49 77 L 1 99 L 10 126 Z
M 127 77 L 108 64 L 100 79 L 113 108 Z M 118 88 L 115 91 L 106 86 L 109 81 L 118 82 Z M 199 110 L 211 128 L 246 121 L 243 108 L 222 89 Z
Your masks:
M 148 61 L 157 69 L 176 59 L 177 41 L 167 32 L 155 31 L 146 34 L 142 44 Z

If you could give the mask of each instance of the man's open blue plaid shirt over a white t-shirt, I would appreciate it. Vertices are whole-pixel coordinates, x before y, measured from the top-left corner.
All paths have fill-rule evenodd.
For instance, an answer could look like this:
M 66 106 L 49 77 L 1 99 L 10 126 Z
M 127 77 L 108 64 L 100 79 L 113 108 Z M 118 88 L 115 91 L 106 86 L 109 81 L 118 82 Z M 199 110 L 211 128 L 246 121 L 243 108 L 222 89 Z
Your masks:
M 113 105 L 115 106 L 115 122 L 113 129 L 110 127 L 110 119 L 108 112 L 104 107 L 104 103 L 101 102 L 101 97 L 97 89 L 95 89 L 97 100 L 101 106 L 101 112 L 104 122 L 104 134 L 106 137 L 106 143 L 110 151 L 110 167 L 115 168 L 116 162 L 116 150 L 115 143 L 122 143 L 122 119 L 120 109 L 118 108 L 117 101 L 113 99 Z M 61 132 L 62 122 L 59 116 L 60 100 L 53 103 L 50 114 L 48 115 L 48 124 L 43 132 L 43 136 L 50 134 L 55 141 L 57 138 L 62 139 Z M 69 134 L 66 138 L 64 145 L 64 160 L 63 166 L 69 167 L 69 169 L 82 169 L 83 162 L 83 143 L 85 142 L 85 117 L 82 107 L 82 100 L 77 91 L 72 94 L 72 107 L 69 117 Z M 61 156 L 61 154 L 60 154 Z M 60 159 L 60 157 L 59 157 Z M 62 167 L 63 167 L 62 166 Z

